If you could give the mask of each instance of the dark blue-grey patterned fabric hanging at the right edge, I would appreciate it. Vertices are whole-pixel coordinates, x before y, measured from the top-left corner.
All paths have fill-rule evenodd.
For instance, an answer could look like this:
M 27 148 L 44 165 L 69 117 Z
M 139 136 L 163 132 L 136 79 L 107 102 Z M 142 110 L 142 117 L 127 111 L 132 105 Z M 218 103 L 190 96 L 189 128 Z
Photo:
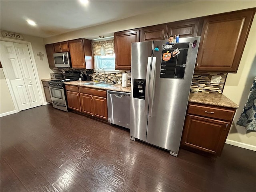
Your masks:
M 250 89 L 244 111 L 236 124 L 245 127 L 247 130 L 256 131 L 256 77 Z

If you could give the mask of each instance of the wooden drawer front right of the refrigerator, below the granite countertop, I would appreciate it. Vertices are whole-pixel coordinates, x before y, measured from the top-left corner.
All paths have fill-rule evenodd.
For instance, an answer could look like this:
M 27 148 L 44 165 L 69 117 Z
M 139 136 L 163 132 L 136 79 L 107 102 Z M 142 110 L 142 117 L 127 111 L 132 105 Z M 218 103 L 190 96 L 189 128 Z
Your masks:
M 195 114 L 227 121 L 232 121 L 235 111 L 236 110 L 232 108 L 225 109 L 210 106 L 199 106 L 196 104 L 189 104 L 188 106 L 188 114 Z

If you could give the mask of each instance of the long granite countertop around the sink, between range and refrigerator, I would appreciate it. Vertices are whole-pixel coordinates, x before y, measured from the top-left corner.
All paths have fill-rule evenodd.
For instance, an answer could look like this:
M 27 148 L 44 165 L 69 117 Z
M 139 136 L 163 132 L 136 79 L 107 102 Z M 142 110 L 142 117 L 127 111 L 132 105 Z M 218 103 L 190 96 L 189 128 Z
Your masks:
M 126 93 L 131 92 L 131 86 L 122 87 L 122 84 L 113 84 L 112 86 L 108 86 L 108 87 L 85 85 L 85 83 L 89 83 L 89 82 L 92 82 L 92 81 L 70 81 L 70 82 L 64 82 L 64 84 L 89 87 L 89 88 L 97 88 L 97 89 L 103 89 L 103 90 L 120 91 L 120 92 L 126 92 Z

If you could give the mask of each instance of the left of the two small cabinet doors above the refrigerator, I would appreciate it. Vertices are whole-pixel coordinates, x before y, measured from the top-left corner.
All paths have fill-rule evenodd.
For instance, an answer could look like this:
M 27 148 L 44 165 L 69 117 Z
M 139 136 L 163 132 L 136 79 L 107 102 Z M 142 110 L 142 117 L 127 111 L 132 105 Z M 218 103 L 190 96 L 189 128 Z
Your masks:
M 167 25 L 156 25 L 141 29 L 140 41 L 153 41 L 166 39 Z

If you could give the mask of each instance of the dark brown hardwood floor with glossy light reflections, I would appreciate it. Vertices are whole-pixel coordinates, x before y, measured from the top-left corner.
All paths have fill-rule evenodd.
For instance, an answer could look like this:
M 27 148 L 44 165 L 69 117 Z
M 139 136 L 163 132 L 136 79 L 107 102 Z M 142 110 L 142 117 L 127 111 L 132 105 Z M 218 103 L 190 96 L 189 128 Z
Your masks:
M 118 126 L 52 108 L 0 119 L 1 192 L 250 192 L 256 152 L 225 144 L 221 157 L 178 157 Z

